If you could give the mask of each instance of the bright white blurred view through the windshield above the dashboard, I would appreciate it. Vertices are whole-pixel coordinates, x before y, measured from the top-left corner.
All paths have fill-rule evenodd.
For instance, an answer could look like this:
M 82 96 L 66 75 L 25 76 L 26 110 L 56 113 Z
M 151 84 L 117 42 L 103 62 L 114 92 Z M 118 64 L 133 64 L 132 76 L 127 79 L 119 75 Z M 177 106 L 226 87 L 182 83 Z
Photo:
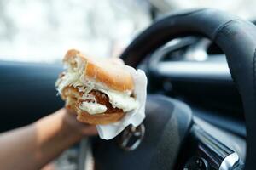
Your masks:
M 0 59 L 60 62 L 69 48 L 118 56 L 151 22 L 181 8 L 221 8 L 249 20 L 253 0 L 2 0 Z

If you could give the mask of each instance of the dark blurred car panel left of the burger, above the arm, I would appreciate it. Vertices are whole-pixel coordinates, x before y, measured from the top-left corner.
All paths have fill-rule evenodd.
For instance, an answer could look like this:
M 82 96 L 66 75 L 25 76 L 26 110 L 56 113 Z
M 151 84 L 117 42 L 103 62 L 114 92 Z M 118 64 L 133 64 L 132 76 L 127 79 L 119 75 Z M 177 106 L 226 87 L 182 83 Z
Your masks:
M 0 62 L 0 132 L 24 126 L 61 108 L 55 80 L 61 65 Z

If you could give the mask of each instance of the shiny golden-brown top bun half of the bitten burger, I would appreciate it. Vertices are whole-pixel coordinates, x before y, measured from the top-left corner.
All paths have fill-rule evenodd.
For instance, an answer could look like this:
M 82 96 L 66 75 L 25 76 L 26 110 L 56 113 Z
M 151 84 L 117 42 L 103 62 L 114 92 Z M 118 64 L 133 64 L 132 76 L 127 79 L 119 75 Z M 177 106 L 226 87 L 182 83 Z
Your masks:
M 100 62 L 96 59 L 85 57 L 78 50 L 71 49 L 67 51 L 63 62 L 73 63 L 76 57 L 81 58 L 86 62 L 85 75 L 91 80 L 102 82 L 108 88 L 116 91 L 132 91 L 134 82 L 129 71 L 125 70 L 125 65 L 118 65 L 109 60 L 101 59 Z

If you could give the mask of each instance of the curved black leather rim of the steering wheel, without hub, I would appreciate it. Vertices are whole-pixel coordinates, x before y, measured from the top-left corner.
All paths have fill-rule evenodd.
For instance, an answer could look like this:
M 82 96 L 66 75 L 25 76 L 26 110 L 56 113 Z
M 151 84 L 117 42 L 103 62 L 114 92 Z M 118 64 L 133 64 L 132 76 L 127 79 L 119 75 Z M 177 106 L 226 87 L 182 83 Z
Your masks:
M 202 8 L 172 14 L 143 31 L 121 54 L 125 64 L 136 67 L 148 54 L 176 37 L 208 37 L 224 51 L 245 112 L 247 159 L 245 169 L 256 161 L 256 27 L 231 14 Z

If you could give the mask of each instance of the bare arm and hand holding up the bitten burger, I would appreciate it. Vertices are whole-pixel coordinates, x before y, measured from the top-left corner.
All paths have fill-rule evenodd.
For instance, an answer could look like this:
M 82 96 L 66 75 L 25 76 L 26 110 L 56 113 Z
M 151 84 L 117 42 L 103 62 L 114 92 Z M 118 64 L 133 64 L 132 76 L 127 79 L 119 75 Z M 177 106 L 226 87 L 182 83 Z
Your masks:
M 26 127 L 0 134 L 0 169 L 40 169 L 96 127 L 76 121 L 66 109 Z

